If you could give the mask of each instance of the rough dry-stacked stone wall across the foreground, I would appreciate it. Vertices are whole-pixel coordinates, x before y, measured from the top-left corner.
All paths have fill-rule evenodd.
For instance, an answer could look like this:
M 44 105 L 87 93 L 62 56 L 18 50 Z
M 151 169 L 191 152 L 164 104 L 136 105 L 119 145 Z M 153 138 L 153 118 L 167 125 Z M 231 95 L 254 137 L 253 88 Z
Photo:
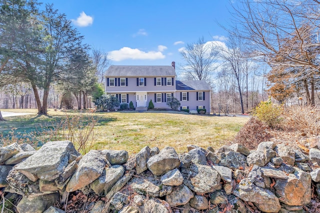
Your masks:
M 81 156 L 69 141 L 38 151 L 15 143 L 0 148 L 0 195 L 15 198 L 18 213 L 76 212 L 68 208 L 79 195 L 85 195 L 79 212 L 87 213 L 312 212 L 318 147 L 319 138 L 309 140 L 307 155 L 273 142 L 254 151 L 188 145 L 180 155 L 146 146 L 129 159 L 123 150 Z

